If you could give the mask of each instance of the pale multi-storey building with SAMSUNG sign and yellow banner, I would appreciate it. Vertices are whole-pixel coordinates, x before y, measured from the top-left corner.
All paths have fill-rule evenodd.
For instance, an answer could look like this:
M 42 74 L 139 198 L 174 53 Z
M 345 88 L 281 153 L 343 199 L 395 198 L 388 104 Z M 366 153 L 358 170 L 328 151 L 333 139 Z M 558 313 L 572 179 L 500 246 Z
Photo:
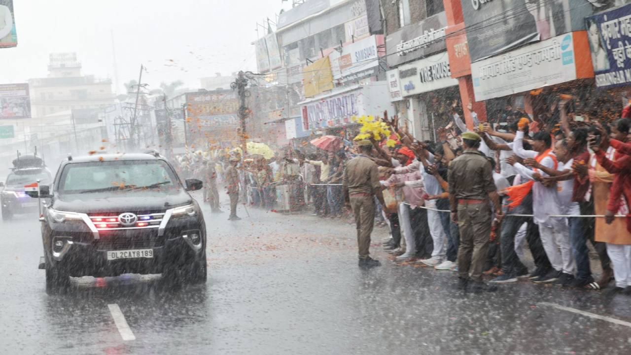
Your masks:
M 339 131 L 353 116 L 391 108 L 382 33 L 373 0 L 310 0 L 281 13 L 276 32 L 255 42 L 263 87 L 281 88 L 270 90 L 275 106 L 263 113 L 277 141 Z

